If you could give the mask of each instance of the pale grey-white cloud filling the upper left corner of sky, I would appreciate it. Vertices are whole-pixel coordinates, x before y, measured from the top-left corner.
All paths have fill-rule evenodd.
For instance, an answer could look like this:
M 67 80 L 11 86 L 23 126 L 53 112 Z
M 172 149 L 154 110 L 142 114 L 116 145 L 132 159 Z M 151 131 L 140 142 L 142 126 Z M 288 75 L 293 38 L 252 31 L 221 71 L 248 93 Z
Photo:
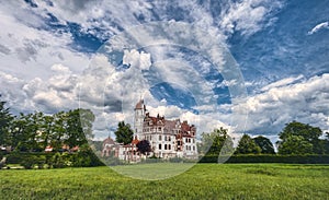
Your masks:
M 7 49 L 7 54 L 0 55 L 1 71 L 24 80 L 37 77 L 47 80 L 54 63 L 67 66 L 75 72 L 87 67 L 89 57 L 69 48 L 71 34 L 43 30 L 44 16 L 33 14 L 34 19 L 30 19 L 27 13 L 34 12 L 24 3 L 11 1 L 0 7 L 1 46 Z M 30 23 L 20 21 L 22 17 L 29 19 Z

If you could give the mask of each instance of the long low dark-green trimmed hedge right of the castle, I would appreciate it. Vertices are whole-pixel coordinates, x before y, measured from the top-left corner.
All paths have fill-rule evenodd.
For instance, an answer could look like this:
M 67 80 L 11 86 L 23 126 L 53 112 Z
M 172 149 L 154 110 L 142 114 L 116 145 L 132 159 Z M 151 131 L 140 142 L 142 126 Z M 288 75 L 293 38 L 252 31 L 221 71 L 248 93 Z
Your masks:
M 225 163 L 287 163 L 287 164 L 329 164 L 329 155 L 276 155 L 276 154 L 247 154 L 218 157 L 207 155 L 200 163 L 218 163 L 218 158 Z

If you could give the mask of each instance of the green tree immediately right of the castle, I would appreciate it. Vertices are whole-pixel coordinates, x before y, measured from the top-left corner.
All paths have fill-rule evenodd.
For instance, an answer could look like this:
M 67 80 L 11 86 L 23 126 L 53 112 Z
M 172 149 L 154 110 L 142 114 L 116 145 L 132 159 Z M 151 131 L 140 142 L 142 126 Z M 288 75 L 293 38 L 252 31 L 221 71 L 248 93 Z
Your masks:
M 198 146 L 201 153 L 208 155 L 230 154 L 234 152 L 234 142 L 227 133 L 227 129 L 220 127 L 211 133 L 202 133 L 202 143 Z

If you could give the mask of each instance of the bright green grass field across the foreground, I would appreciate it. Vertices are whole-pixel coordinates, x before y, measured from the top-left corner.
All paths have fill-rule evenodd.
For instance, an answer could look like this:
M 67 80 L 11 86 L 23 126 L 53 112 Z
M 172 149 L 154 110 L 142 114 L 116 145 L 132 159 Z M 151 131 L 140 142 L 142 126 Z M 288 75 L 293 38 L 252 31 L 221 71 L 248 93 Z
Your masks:
M 157 164 L 147 164 L 144 167 L 151 168 L 155 165 Z M 127 169 L 132 170 L 133 168 Z M 0 199 L 5 200 L 324 200 L 329 199 L 328 186 L 329 165 L 197 164 L 184 174 L 162 180 L 132 179 L 109 167 L 0 170 Z

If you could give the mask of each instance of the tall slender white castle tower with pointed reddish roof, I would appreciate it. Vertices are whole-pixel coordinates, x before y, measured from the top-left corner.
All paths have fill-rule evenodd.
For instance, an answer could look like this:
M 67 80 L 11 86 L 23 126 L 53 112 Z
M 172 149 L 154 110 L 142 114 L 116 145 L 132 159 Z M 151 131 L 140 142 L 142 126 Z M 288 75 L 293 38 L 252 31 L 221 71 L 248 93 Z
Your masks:
M 137 137 L 137 140 L 140 140 L 143 133 L 143 123 L 146 113 L 146 107 L 144 99 L 140 99 L 135 106 L 135 119 L 134 119 L 134 138 Z

